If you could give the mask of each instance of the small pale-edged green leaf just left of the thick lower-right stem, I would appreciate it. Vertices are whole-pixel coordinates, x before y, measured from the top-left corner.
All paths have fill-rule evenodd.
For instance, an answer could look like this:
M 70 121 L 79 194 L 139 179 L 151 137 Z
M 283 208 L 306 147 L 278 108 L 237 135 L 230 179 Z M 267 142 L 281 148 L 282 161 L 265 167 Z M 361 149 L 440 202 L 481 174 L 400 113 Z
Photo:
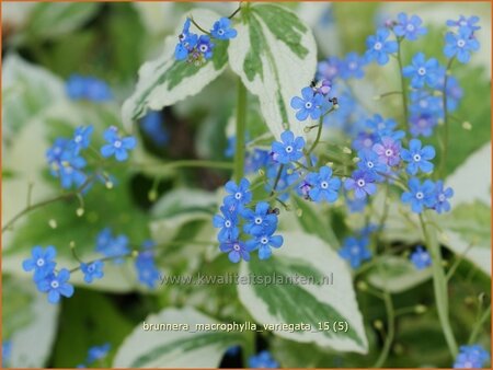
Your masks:
M 388 256 L 380 259 L 368 274 L 368 281 L 382 290 L 400 293 L 426 281 L 432 269 L 417 269 L 409 259 Z

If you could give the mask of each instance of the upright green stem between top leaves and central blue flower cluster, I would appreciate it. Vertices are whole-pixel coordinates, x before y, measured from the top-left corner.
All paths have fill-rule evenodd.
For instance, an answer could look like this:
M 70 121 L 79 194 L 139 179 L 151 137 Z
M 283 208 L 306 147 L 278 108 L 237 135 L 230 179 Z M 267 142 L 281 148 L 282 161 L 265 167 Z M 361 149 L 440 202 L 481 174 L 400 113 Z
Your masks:
M 234 150 L 234 181 L 240 183 L 244 169 L 244 137 L 246 129 L 246 89 L 238 78 L 237 142 Z

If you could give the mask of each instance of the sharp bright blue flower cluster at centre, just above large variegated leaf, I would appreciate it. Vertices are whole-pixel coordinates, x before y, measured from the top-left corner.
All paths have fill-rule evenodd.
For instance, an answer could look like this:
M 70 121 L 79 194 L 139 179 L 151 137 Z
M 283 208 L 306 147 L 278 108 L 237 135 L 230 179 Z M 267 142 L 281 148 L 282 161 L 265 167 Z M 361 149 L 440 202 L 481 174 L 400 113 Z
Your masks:
M 216 215 L 213 220 L 214 227 L 220 229 L 217 236 L 220 251 L 228 253 L 233 263 L 250 261 L 250 253 L 256 250 L 259 258 L 270 258 L 271 247 L 278 248 L 283 244 L 283 236 L 274 235 L 277 215 L 266 201 L 259 201 L 255 208 L 249 208 L 252 193 L 246 178 L 239 184 L 230 181 L 225 188 L 228 195 L 220 207 L 221 215 Z M 241 230 L 250 236 L 248 241 L 240 239 Z

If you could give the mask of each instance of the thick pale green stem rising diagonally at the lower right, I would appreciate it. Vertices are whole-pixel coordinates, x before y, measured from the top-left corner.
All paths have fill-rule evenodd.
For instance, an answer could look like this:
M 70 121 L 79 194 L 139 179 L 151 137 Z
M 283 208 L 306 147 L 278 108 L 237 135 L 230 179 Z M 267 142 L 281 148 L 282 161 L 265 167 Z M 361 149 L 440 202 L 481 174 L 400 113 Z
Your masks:
M 420 215 L 421 228 L 423 230 L 426 245 L 432 256 L 433 288 L 435 291 L 435 301 L 438 311 L 438 320 L 444 332 L 445 340 L 452 358 L 457 356 L 457 342 L 450 326 L 448 315 L 448 293 L 447 279 L 442 267 L 440 246 L 436 238 L 436 231 L 427 228 L 423 215 Z

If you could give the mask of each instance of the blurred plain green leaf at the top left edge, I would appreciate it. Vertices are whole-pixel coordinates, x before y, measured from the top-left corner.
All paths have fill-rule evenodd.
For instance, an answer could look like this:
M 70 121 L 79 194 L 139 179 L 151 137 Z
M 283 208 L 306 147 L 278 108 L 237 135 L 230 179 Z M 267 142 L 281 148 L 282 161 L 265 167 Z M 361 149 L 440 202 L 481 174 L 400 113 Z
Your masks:
M 95 2 L 37 3 L 30 13 L 25 32 L 33 39 L 62 36 L 88 22 L 99 8 Z

